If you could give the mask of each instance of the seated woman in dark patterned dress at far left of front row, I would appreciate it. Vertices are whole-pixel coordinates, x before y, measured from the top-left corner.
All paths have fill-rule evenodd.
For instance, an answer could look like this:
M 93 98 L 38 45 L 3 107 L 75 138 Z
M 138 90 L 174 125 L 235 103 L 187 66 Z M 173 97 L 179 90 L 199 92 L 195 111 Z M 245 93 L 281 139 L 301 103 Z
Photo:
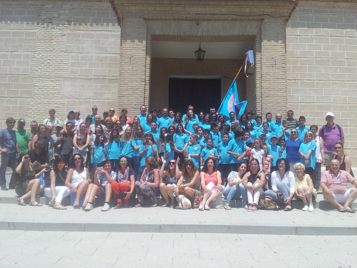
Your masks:
M 20 154 L 19 164 L 15 170 L 18 175 L 14 179 L 15 192 L 19 196 L 17 202 L 20 206 L 26 206 L 25 199 L 30 197 L 30 206 L 40 207 L 42 204 L 36 201 L 36 194 L 44 188 L 38 179 L 44 169 L 35 174 L 30 161 L 27 153 Z

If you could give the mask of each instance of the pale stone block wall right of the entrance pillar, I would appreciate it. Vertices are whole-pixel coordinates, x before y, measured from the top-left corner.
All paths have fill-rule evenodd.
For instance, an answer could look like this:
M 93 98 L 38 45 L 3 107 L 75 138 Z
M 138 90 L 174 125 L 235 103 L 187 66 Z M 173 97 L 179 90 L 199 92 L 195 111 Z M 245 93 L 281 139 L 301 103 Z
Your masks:
M 345 152 L 357 166 L 356 3 L 300 1 L 286 27 L 287 107 L 306 125 L 335 114 Z

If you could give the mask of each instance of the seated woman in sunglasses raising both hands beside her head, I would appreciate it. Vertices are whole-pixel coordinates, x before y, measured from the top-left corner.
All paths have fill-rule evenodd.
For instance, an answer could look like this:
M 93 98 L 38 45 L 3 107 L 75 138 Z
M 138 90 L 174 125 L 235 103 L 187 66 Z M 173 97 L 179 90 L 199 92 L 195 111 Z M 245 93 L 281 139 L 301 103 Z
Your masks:
M 177 162 L 180 158 L 170 159 L 167 163 L 167 170 L 165 170 L 166 159 L 161 156 L 161 169 L 160 169 L 160 177 L 162 178 L 162 182 L 160 183 L 160 193 L 161 196 L 165 198 L 165 204 L 160 207 L 167 207 L 170 205 L 171 208 L 174 207 L 174 188 L 172 184 L 177 184 L 178 178 L 181 176 L 181 172 L 178 170 Z M 170 202 L 171 201 L 171 202 Z

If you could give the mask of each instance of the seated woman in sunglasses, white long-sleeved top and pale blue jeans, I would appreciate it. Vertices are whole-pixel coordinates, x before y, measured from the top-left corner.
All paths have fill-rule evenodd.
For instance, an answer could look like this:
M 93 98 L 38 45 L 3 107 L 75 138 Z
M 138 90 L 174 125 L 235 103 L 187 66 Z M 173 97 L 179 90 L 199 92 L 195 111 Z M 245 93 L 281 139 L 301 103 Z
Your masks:
M 290 163 L 286 158 L 279 158 L 276 165 L 278 170 L 271 173 L 272 189 L 266 190 L 265 195 L 285 206 L 284 211 L 291 211 L 291 201 L 295 195 L 295 176 L 289 171 Z

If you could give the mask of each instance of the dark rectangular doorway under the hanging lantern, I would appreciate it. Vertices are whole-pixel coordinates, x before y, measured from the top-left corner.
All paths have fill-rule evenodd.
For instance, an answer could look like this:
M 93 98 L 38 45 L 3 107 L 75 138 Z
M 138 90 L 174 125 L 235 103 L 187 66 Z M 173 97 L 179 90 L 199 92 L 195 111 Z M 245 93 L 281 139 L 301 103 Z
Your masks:
M 221 105 L 221 79 L 169 78 L 169 109 L 186 114 L 193 105 L 195 113 L 209 112 Z

